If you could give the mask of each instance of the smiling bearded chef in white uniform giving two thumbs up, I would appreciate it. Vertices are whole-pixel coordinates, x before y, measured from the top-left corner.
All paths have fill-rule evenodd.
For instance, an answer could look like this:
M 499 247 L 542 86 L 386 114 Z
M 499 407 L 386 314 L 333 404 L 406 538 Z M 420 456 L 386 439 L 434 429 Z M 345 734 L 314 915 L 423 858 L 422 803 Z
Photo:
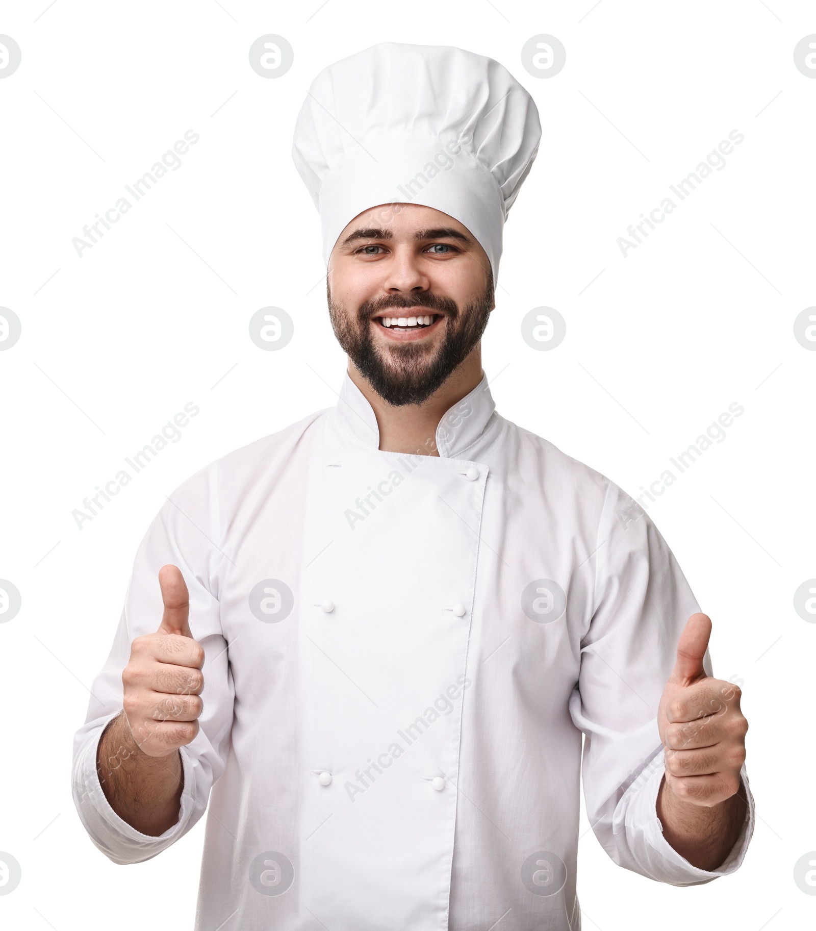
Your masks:
M 75 740 L 115 863 L 208 809 L 199 931 L 577 929 L 581 773 L 622 867 L 742 862 L 747 725 L 711 622 L 646 514 L 504 420 L 481 368 L 540 136 L 453 47 L 370 47 L 302 106 L 338 403 L 169 496 Z

